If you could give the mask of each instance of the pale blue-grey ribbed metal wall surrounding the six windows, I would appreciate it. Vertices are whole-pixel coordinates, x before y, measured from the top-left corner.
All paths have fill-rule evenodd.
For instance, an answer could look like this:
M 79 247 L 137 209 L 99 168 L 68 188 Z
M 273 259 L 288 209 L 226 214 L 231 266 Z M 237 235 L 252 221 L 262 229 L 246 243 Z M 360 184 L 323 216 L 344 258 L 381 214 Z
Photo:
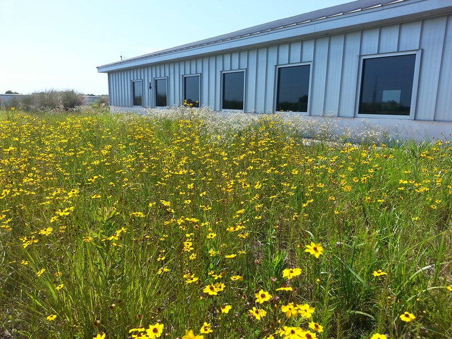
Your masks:
M 168 77 L 168 104 L 182 99 L 182 76 L 200 74 L 202 105 L 220 110 L 221 71 L 246 70 L 245 110 L 274 109 L 276 66 L 312 62 L 308 112 L 354 117 L 360 55 L 422 50 L 416 120 L 452 121 L 452 16 L 294 41 L 108 74 L 110 104 L 132 106 L 131 81 L 143 80 L 143 103 L 155 105 L 154 78 Z

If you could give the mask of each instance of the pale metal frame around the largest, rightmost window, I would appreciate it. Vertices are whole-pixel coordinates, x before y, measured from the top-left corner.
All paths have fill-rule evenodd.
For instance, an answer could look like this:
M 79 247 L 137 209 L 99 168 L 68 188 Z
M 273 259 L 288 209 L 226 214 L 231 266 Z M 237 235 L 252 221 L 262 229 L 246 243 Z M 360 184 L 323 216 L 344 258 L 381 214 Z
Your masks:
M 374 59 L 374 58 L 384 58 L 390 56 L 399 56 L 399 55 L 415 55 L 414 61 L 414 75 L 413 75 L 413 88 L 411 90 L 411 103 L 410 103 L 410 114 L 409 116 L 402 115 L 388 115 L 388 114 L 359 114 L 360 110 L 360 100 L 361 100 L 361 87 L 363 85 L 363 64 L 365 59 Z M 358 69 L 358 83 L 357 83 L 357 95 L 355 100 L 355 118 L 385 118 L 385 119 L 406 119 L 406 120 L 414 120 L 416 116 L 416 100 L 417 100 L 417 90 L 419 84 L 419 70 L 420 70 L 420 62 L 421 62 L 421 49 L 409 50 L 409 51 L 400 51 L 400 52 L 390 52 L 390 53 L 376 53 L 376 54 L 364 54 L 359 55 L 359 69 Z

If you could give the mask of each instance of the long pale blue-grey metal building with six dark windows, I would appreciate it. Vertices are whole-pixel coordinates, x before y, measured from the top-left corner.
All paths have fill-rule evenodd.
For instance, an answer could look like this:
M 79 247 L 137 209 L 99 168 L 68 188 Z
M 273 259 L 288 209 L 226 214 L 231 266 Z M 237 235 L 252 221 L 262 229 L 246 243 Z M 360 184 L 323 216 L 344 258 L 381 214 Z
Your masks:
M 110 105 L 452 132 L 452 1 L 358 0 L 97 67 Z M 359 118 L 358 120 L 356 118 Z M 448 132 L 450 130 L 450 132 Z

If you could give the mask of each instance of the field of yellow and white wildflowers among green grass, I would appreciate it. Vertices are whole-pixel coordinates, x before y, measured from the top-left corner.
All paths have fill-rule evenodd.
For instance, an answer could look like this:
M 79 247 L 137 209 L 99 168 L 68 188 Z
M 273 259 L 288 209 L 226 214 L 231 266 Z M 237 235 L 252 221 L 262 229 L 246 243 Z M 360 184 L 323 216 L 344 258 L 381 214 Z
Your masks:
M 451 337 L 449 141 L 293 119 L 0 112 L 0 333 Z

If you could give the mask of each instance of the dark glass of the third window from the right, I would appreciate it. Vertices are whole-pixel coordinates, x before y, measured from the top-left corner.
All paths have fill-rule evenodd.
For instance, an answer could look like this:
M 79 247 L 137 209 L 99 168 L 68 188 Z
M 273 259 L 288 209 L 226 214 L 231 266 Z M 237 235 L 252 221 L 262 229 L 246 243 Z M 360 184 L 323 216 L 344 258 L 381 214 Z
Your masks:
M 243 109 L 245 72 L 223 73 L 222 109 Z

